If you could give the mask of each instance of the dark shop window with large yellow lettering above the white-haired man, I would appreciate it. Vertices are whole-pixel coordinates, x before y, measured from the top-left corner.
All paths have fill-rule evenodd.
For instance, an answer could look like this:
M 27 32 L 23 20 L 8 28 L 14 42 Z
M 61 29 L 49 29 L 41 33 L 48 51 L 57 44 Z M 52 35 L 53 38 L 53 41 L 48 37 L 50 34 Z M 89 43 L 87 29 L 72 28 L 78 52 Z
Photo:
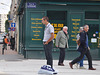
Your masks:
M 67 26 L 67 12 L 66 11 L 47 11 L 50 23 L 54 27 L 54 46 L 57 33 Z M 55 47 L 56 48 L 56 47 Z

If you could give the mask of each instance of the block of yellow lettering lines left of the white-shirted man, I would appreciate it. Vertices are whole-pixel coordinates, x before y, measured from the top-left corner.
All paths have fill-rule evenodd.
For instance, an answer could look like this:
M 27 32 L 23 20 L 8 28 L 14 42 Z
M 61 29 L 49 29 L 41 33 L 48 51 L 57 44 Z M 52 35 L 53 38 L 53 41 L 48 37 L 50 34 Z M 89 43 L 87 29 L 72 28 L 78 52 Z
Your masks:
M 31 38 L 32 41 L 42 40 L 41 33 L 43 33 L 42 18 L 35 18 L 31 16 Z

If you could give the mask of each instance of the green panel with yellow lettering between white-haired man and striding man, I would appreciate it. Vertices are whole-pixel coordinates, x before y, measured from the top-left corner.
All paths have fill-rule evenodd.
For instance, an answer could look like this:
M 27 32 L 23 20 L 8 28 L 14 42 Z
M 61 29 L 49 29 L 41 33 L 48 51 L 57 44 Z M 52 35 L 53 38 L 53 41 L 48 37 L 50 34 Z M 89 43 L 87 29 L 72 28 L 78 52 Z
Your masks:
M 82 14 L 81 13 L 71 13 L 70 19 L 70 45 L 76 46 L 76 36 L 79 33 L 79 28 L 82 26 Z

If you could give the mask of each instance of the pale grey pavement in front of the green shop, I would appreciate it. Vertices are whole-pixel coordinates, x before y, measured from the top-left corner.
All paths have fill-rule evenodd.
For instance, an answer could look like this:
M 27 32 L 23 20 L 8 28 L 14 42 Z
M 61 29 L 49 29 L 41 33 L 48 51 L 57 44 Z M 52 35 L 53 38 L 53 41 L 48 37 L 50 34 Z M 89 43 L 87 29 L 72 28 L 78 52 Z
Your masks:
M 5 55 L 0 54 L 0 75 L 40 75 L 38 71 L 46 60 L 24 59 L 23 56 L 14 51 L 5 51 Z M 8 53 L 9 54 L 8 54 Z M 97 70 L 88 70 L 87 60 L 84 61 L 86 69 L 74 69 L 69 67 L 71 60 L 65 60 L 65 66 L 58 66 L 58 60 L 53 60 L 54 68 L 58 71 L 57 75 L 100 75 L 100 61 L 93 61 L 93 67 Z M 41 74 L 47 75 L 47 74 Z

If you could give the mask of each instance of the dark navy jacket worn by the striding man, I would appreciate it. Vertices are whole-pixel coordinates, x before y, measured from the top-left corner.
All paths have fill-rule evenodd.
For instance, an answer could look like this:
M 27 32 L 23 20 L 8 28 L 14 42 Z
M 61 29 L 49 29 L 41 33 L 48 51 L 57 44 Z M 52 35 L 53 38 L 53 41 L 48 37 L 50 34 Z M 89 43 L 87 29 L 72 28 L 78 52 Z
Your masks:
M 86 35 L 88 35 L 88 34 L 85 31 L 80 33 L 80 46 L 78 48 L 78 51 L 80 51 L 80 52 L 86 51 L 88 49 L 88 47 L 86 45 Z

